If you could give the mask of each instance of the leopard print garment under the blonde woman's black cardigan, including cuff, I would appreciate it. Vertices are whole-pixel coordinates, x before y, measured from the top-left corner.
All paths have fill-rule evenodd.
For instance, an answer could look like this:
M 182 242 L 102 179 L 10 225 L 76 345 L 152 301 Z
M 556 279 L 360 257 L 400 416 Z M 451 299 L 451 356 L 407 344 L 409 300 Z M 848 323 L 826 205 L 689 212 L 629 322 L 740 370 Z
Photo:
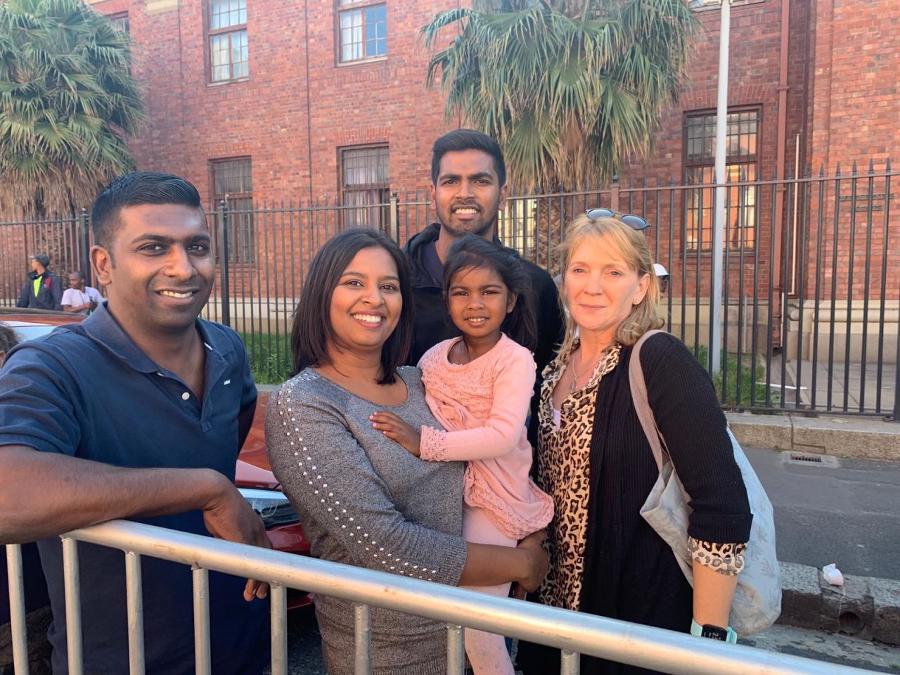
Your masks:
M 554 520 L 547 529 L 545 545 L 550 570 L 538 591 L 541 602 L 578 611 L 584 574 L 590 500 L 590 440 L 594 428 L 597 392 L 603 377 L 619 363 L 622 347 L 614 344 L 599 360 L 584 389 L 572 392 L 554 419 L 553 392 L 578 340 L 544 370 L 538 415 L 540 462 L 537 482 L 554 500 Z M 729 576 L 743 570 L 745 544 L 716 544 L 689 537 L 693 559 Z

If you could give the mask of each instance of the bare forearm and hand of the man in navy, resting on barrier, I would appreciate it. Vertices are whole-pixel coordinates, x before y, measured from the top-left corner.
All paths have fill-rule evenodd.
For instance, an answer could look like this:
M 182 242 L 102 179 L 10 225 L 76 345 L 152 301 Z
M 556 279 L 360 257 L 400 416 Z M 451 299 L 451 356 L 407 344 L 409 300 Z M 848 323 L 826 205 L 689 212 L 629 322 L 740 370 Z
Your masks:
M 0 446 L 0 544 L 61 535 L 114 518 L 202 510 L 212 536 L 271 548 L 234 485 L 212 469 L 127 469 L 27 446 Z M 252 585 L 252 589 L 251 589 Z M 245 597 L 265 596 L 257 581 Z

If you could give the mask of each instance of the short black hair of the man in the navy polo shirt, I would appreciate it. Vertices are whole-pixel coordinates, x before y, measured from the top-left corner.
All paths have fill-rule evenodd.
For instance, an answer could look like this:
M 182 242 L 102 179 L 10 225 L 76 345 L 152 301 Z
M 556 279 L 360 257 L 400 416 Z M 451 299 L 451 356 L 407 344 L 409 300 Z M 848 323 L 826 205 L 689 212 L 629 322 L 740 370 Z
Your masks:
M 108 249 L 119 229 L 122 207 L 140 204 L 179 204 L 202 211 L 200 193 L 184 178 L 159 171 L 131 171 L 114 179 L 94 200 L 94 244 Z

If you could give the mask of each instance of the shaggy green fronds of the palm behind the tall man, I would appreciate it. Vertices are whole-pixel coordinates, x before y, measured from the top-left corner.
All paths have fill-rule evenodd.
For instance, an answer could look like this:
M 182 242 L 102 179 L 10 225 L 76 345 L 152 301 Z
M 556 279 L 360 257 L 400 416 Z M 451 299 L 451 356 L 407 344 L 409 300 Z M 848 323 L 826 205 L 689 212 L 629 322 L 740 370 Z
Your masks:
M 500 142 L 518 190 L 598 184 L 644 156 L 682 84 L 698 25 L 684 0 L 474 0 L 422 29 L 458 36 L 440 71 L 448 120 Z

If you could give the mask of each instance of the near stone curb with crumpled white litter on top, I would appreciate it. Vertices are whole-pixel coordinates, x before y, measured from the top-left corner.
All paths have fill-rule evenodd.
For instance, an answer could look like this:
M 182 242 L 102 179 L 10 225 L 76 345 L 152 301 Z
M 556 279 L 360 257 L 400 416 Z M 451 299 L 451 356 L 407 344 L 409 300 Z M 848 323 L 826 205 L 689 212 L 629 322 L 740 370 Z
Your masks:
M 837 587 L 810 565 L 779 567 L 779 624 L 900 644 L 900 581 L 846 575 L 843 587 Z

